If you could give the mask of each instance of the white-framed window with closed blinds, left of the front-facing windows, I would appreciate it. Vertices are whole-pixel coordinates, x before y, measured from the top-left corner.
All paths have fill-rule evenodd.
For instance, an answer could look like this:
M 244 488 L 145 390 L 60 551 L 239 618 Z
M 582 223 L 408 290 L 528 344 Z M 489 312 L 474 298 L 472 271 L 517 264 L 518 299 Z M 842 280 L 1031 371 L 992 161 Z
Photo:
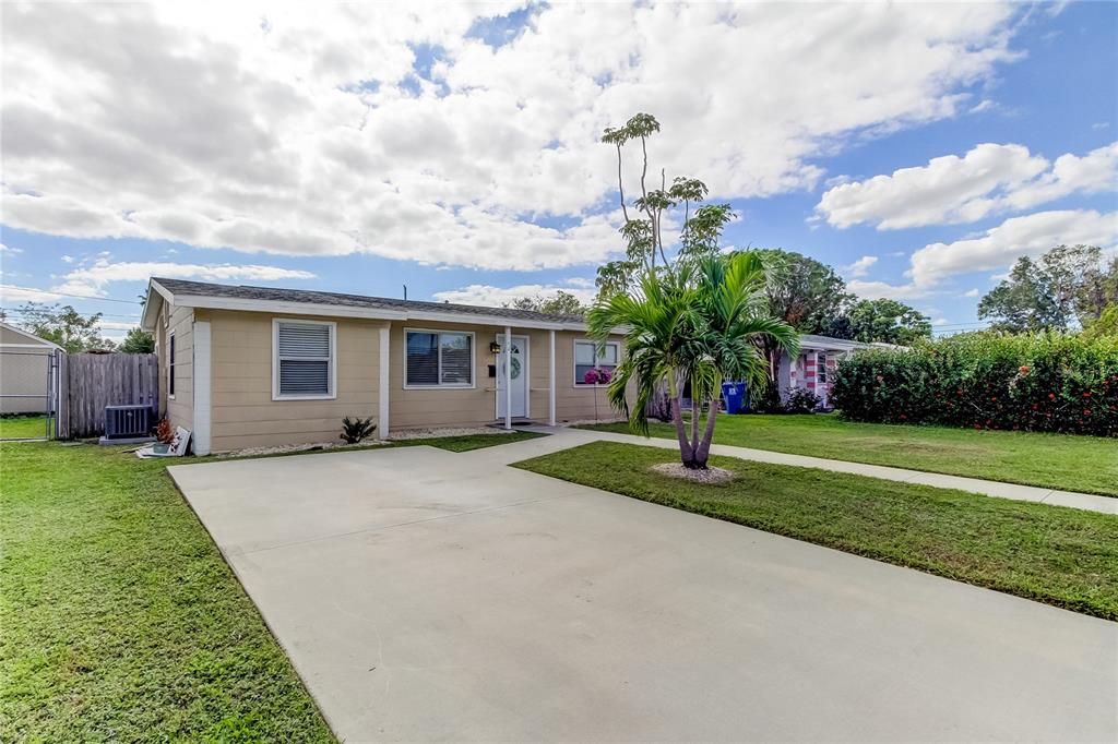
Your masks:
M 273 398 L 334 397 L 334 324 L 274 321 Z

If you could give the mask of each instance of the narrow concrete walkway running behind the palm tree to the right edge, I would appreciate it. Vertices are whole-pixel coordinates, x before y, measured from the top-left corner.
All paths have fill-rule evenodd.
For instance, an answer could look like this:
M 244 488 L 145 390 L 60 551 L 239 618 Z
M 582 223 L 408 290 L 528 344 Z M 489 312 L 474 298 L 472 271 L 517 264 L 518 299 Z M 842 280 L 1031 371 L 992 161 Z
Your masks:
M 569 427 L 529 427 L 527 430 L 548 433 L 551 435 L 551 437 L 546 439 L 532 439 L 527 442 L 517 442 L 511 446 L 494 447 L 491 448 L 493 451 L 490 452 L 490 457 L 492 457 L 494 461 L 511 464 L 529 457 L 557 452 L 561 449 L 569 449 L 587 442 L 603 440 L 641 445 L 644 447 L 660 447 L 663 449 L 675 449 L 678 447 L 674 439 L 660 439 L 656 437 L 645 439 L 644 437 L 636 437 L 633 435 L 591 431 L 588 429 L 571 429 Z M 997 480 L 982 480 L 979 478 L 964 478 L 961 476 L 925 473 L 922 470 L 908 470 L 904 468 L 892 468 L 883 465 L 847 462 L 846 460 L 828 460 L 822 457 L 788 455 L 785 452 L 773 452 L 765 449 L 731 447 L 729 445 L 713 445 L 711 447 L 711 454 L 724 455 L 726 457 L 737 457 L 743 460 L 755 460 L 757 462 L 794 465 L 804 468 L 834 470 L 835 473 L 850 473 L 853 475 L 868 476 L 870 478 L 920 484 L 925 486 L 935 486 L 937 488 L 956 488 L 958 490 L 967 490 L 973 494 L 996 496 L 997 498 L 1011 498 L 1018 502 L 1036 502 L 1043 504 L 1054 504 L 1057 506 L 1070 506 L 1089 512 L 1101 512 L 1102 514 L 1118 514 L 1118 498 L 1112 498 L 1110 496 L 1078 494 L 1070 490 L 1055 490 L 1052 488 L 1039 488 L 1036 486 L 1021 486 L 1017 484 L 1001 483 Z

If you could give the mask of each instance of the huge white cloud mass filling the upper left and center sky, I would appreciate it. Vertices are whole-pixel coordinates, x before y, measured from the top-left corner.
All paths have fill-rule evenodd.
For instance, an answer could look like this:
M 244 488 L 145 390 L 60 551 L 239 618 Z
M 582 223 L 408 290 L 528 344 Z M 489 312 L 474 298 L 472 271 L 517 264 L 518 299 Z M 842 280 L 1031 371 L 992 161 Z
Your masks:
M 593 264 L 620 248 L 600 216 L 606 125 L 656 114 L 656 165 L 718 198 L 811 188 L 813 159 L 851 139 L 964 113 L 1017 58 L 1022 12 L 555 3 L 500 48 L 466 36 L 517 4 L 6 7 L 4 221 L 246 252 Z M 418 94 L 416 42 L 442 49 Z

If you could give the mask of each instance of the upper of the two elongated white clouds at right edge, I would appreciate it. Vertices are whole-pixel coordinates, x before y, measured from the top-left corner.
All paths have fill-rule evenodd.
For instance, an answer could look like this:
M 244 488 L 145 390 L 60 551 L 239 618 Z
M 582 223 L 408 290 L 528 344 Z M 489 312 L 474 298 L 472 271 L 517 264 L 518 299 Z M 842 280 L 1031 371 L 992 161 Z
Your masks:
M 837 228 L 863 222 L 879 230 L 974 222 L 1072 193 L 1118 187 L 1118 142 L 1082 158 L 1049 162 L 1017 144 L 980 144 L 891 175 L 843 183 L 824 192 L 816 211 Z

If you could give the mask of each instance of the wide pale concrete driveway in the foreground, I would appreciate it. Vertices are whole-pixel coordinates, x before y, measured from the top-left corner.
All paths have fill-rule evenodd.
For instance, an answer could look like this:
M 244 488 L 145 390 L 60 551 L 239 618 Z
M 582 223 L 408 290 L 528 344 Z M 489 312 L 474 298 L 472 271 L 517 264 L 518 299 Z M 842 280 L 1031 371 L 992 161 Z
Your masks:
M 1118 623 L 501 464 L 541 447 L 170 471 L 345 741 L 1118 740 Z

